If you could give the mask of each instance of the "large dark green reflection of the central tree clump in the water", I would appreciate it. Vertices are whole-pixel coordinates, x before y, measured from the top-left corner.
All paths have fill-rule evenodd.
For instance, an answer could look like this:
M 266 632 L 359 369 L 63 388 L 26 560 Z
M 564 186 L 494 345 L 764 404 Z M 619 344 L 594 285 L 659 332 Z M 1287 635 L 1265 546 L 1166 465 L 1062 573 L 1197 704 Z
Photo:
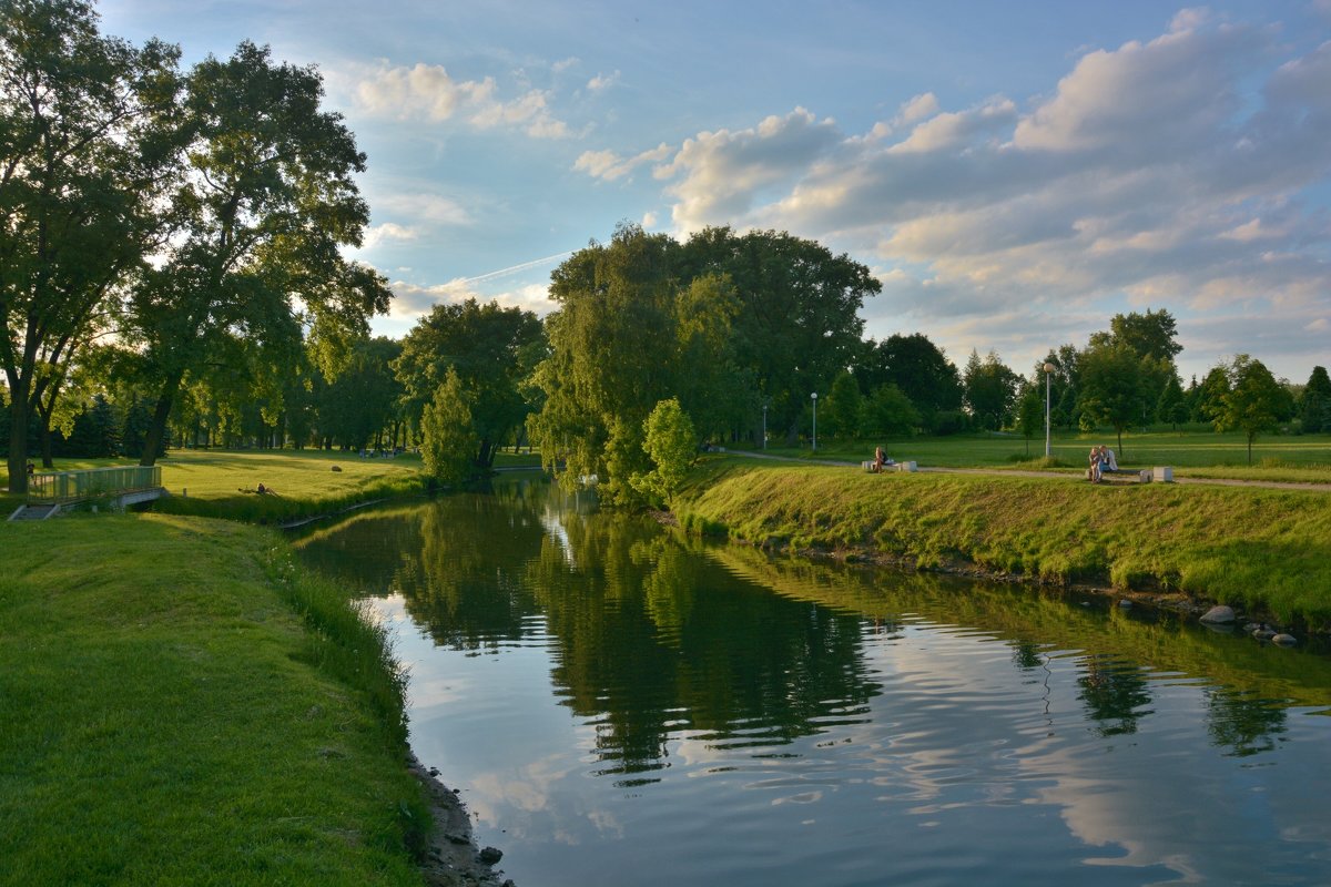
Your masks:
M 555 682 L 596 725 L 602 773 L 667 766 L 680 731 L 773 745 L 866 710 L 860 620 L 771 594 L 659 528 L 603 515 L 566 521 L 530 586 L 559 638 Z

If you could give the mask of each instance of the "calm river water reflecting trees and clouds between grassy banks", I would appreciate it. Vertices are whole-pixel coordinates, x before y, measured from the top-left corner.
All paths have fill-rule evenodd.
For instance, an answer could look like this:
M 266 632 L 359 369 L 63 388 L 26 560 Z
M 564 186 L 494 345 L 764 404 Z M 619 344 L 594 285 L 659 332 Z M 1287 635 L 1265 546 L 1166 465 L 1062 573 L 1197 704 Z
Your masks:
M 1331 657 L 767 557 L 531 476 L 302 557 L 519 887 L 1331 884 Z

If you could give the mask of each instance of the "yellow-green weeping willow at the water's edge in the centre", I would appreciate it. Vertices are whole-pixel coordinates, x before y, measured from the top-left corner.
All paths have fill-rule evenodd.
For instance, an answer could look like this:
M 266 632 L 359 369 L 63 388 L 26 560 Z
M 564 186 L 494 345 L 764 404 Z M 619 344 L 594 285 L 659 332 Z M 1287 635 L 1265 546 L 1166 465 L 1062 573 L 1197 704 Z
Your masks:
M 534 376 L 544 402 L 528 428 L 547 468 L 566 484 L 596 475 L 610 503 L 640 503 L 630 479 L 652 469 L 643 423 L 658 403 L 679 398 L 705 427 L 732 402 L 733 290 L 713 275 L 681 281 L 680 255 L 669 237 L 622 225 L 551 275 L 559 310 L 546 318 L 550 356 Z

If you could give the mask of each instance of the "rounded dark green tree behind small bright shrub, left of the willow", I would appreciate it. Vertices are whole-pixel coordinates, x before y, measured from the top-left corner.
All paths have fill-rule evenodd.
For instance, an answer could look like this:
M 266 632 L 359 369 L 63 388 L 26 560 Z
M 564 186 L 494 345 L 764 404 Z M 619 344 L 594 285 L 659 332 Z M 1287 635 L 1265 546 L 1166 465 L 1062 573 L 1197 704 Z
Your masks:
M 413 424 L 419 423 L 449 370 L 458 374 L 470 399 L 476 440 L 473 461 L 490 468 L 499 445 L 527 419 L 530 406 L 522 383 L 544 354 L 544 330 L 535 314 L 467 299 L 437 305 L 421 318 L 402 340 L 402 354 L 393 366 Z

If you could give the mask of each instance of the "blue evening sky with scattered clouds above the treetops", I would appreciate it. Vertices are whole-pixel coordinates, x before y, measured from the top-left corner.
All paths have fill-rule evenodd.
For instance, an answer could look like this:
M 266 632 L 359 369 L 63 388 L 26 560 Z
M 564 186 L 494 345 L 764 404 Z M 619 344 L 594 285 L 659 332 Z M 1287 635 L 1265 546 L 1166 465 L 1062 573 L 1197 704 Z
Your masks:
M 1167 310 L 1185 383 L 1331 364 L 1331 0 L 104 0 L 104 33 L 317 65 L 369 158 L 354 257 L 540 315 L 619 222 L 816 239 L 924 332 L 1029 375 Z

